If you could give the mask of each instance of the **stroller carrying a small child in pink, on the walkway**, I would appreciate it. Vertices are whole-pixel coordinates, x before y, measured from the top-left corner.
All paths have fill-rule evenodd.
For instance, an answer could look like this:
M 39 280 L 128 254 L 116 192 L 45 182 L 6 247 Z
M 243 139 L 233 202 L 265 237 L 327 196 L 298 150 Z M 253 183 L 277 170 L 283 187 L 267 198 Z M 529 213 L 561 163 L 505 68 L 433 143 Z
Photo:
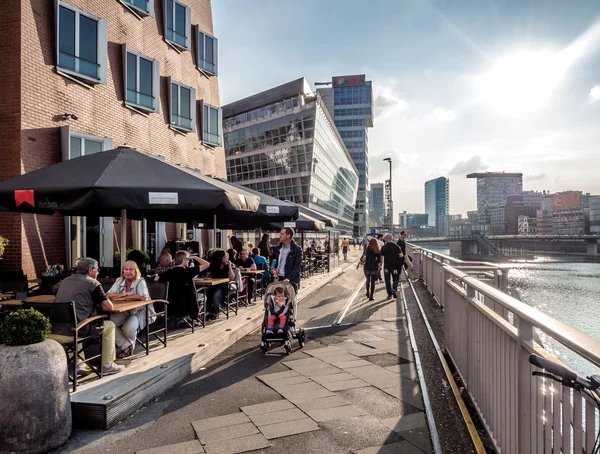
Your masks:
M 260 342 L 262 351 L 266 353 L 271 344 L 282 342 L 289 355 L 294 339 L 298 339 L 300 347 L 303 347 L 306 334 L 303 329 L 296 329 L 298 308 L 294 286 L 289 282 L 273 282 L 265 290 L 264 304 Z M 276 322 L 278 323 L 275 332 Z

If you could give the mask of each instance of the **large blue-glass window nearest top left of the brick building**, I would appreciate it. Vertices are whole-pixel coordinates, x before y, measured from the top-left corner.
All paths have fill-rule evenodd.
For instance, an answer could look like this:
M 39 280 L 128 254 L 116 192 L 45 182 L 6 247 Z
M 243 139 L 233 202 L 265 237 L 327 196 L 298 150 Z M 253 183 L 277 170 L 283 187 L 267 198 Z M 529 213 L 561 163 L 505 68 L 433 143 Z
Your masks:
M 106 83 L 106 21 L 60 0 L 56 21 L 57 70 L 83 81 Z

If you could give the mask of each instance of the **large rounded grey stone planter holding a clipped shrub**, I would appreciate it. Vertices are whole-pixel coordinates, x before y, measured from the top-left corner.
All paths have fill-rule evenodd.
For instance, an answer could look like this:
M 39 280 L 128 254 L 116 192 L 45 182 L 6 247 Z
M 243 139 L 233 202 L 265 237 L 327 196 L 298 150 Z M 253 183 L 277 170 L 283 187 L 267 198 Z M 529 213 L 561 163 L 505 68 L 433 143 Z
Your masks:
M 67 358 L 60 344 L 0 345 L 0 453 L 41 453 L 71 435 Z

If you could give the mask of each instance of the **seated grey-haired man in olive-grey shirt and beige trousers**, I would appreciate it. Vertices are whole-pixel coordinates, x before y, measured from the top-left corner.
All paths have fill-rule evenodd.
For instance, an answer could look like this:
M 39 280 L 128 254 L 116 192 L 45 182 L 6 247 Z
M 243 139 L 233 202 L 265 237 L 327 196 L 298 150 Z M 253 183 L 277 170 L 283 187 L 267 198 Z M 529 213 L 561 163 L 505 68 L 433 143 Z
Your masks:
M 82 258 L 77 262 L 77 273 L 62 281 L 56 294 L 57 302 L 75 302 L 75 313 L 77 322 L 98 315 L 100 311 L 110 312 L 113 309 L 112 302 L 104 293 L 102 285 L 96 280 L 98 277 L 98 262 L 92 258 Z M 91 329 L 90 326 L 88 326 Z M 82 332 L 85 336 L 89 332 Z M 125 366 L 116 364 L 115 351 L 115 324 L 110 320 L 104 320 L 104 332 L 102 334 L 102 368 L 104 375 L 117 374 L 125 369 Z

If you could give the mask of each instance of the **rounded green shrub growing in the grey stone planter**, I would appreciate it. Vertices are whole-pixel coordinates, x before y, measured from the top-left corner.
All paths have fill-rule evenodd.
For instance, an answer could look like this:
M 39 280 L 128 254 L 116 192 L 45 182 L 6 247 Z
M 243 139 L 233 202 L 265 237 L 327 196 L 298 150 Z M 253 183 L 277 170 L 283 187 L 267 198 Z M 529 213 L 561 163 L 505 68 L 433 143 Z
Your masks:
M 30 345 L 43 342 L 50 334 L 50 320 L 33 308 L 19 309 L 6 316 L 0 325 L 0 343 Z

